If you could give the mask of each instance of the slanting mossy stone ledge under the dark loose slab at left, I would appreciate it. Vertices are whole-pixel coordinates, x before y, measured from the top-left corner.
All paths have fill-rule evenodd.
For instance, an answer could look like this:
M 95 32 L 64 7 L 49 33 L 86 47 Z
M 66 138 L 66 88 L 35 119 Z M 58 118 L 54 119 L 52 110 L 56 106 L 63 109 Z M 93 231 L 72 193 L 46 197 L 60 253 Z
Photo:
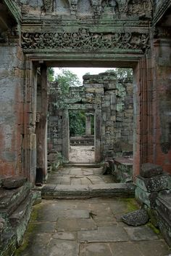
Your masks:
M 0 188 L 0 216 L 7 218 L 17 209 L 20 203 L 28 196 L 30 183 L 25 183 L 20 188 Z

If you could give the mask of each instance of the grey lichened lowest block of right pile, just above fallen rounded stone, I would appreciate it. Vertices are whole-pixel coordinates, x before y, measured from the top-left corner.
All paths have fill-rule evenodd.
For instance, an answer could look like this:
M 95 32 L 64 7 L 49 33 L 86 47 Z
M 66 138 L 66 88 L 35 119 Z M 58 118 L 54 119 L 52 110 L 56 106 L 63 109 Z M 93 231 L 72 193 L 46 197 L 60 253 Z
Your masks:
M 149 208 L 154 209 L 156 207 L 157 192 L 146 192 L 142 188 L 135 188 L 135 199 L 137 199 L 141 204 L 146 204 Z

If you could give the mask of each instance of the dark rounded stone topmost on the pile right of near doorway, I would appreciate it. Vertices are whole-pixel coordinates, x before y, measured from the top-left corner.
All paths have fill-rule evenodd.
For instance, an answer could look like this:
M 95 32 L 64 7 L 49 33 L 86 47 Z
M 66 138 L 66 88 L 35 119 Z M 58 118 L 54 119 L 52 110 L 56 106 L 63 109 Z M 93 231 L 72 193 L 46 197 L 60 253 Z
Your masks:
M 142 177 L 153 177 L 156 175 L 161 175 L 162 172 L 163 172 L 162 167 L 160 167 L 159 165 L 146 163 L 146 164 L 142 164 L 140 175 Z

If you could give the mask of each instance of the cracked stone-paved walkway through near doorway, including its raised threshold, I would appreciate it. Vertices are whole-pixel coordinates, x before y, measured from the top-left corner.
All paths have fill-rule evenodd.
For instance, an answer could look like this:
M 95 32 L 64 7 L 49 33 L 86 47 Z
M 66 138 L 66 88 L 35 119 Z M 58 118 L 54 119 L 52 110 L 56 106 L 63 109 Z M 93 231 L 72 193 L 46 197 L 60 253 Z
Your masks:
M 134 196 L 133 185 L 108 183 L 110 177 L 93 167 L 69 164 L 49 175 L 51 183 L 42 188 L 49 200 L 33 207 L 24 243 L 14 256 L 170 255 L 162 236 L 151 228 L 121 222 L 123 214 L 139 208 L 135 199 L 126 198 Z M 82 185 L 70 185 L 71 180 Z

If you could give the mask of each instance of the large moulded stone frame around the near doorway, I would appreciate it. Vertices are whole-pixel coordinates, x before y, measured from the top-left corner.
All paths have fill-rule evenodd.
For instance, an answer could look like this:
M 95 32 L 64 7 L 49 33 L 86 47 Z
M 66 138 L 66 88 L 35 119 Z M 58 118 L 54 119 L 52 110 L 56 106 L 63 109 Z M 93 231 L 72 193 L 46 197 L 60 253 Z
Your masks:
M 83 53 L 77 52 L 54 52 L 52 53 L 30 53 L 25 54 L 25 113 L 32 113 L 32 104 L 34 102 L 33 89 L 33 70 L 41 64 L 51 67 L 107 67 L 107 68 L 133 68 L 133 90 L 134 90 L 134 142 L 133 142 L 133 177 L 138 174 L 140 166 L 146 162 L 149 156 L 149 140 L 146 131 L 149 129 L 149 109 L 146 104 L 149 98 L 149 76 L 147 69 L 147 55 L 121 55 L 116 53 Z M 146 116 L 144 116 L 146 113 Z M 34 113 L 32 113 L 34 114 Z M 25 120 L 25 163 L 24 168 L 30 180 L 34 180 L 33 167 L 31 166 L 31 135 L 30 118 Z M 143 120 L 143 122 L 141 121 Z M 96 156 L 96 159 L 98 156 Z

